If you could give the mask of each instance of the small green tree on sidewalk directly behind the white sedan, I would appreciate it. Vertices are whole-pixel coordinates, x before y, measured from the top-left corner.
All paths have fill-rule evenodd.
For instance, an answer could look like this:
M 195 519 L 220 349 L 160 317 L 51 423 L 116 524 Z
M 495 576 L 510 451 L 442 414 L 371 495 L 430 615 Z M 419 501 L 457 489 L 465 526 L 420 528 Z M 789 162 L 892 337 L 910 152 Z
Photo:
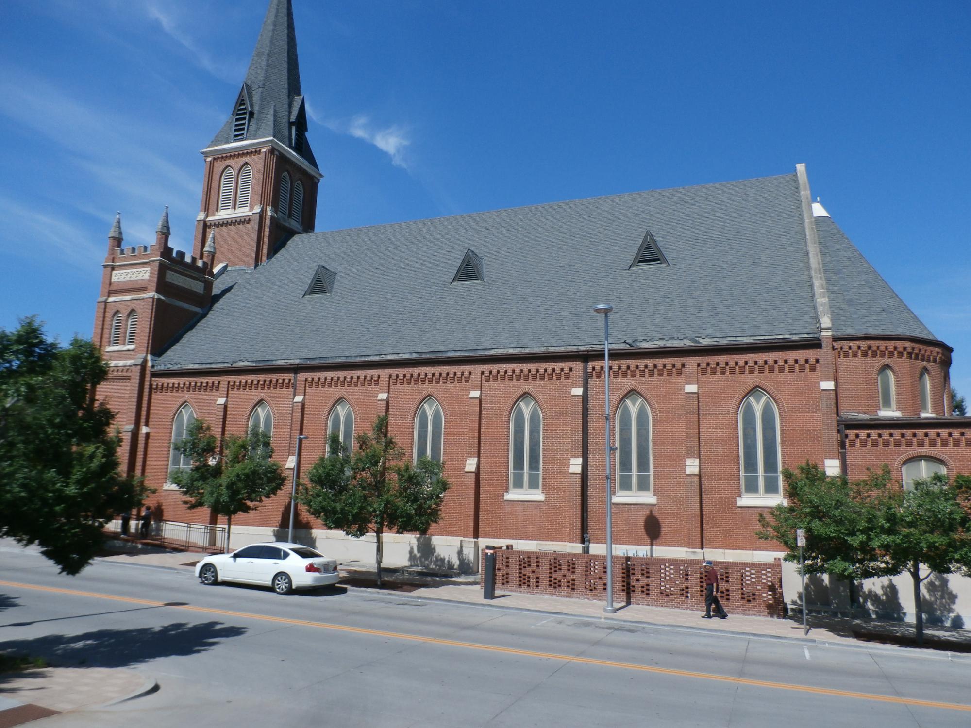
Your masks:
M 208 508 L 226 517 L 226 546 L 237 513 L 250 513 L 256 504 L 284 485 L 284 471 L 273 460 L 270 436 L 256 428 L 246 437 L 229 435 L 219 442 L 204 419 L 194 420 L 176 445 L 192 467 L 172 474 L 190 508 Z

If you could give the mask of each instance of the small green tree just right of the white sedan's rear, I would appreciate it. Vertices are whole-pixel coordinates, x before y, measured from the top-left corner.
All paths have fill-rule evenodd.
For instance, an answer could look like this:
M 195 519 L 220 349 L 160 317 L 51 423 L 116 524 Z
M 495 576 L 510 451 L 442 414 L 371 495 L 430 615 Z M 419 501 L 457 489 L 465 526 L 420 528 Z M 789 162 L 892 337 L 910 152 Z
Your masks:
M 442 514 L 449 482 L 443 463 L 427 457 L 402 462 L 404 450 L 387 434 L 387 417 L 378 417 L 371 433 L 357 436 L 351 451 L 332 433 L 328 454 L 321 456 L 301 483 L 298 501 L 327 528 L 360 538 L 376 536 L 375 563 L 381 586 L 385 531 L 428 533 Z

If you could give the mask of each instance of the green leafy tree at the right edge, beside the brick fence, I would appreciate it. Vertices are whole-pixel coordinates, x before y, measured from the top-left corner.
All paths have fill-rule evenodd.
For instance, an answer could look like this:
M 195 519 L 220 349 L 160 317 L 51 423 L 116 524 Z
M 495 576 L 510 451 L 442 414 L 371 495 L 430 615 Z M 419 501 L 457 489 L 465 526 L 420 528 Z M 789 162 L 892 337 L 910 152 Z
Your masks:
M 971 575 L 971 477 L 949 481 L 935 474 L 905 491 L 886 465 L 855 482 L 827 478 L 809 464 L 783 475 L 788 505 L 759 515 L 758 538 L 778 541 L 787 548 L 786 560 L 798 561 L 795 532 L 804 529 L 807 574 L 844 579 L 909 574 L 922 644 L 921 583 L 935 572 Z

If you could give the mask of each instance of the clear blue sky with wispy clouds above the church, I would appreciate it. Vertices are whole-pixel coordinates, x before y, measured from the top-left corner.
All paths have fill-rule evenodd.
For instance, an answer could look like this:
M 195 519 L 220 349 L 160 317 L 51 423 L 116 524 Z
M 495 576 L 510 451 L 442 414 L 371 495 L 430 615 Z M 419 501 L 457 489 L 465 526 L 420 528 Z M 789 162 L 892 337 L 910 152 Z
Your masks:
M 0 326 L 89 336 L 116 210 L 190 248 L 267 0 L 3 3 Z M 318 229 L 786 174 L 971 394 L 971 4 L 294 0 Z M 592 325 L 592 324 L 591 324 Z

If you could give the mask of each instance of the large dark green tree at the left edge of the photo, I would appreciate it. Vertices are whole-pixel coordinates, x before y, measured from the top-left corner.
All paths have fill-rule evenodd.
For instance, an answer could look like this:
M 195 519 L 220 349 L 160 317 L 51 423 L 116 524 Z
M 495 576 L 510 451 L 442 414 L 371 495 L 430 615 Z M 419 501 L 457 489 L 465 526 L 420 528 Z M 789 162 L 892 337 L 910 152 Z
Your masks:
M 135 504 L 118 475 L 115 414 L 94 398 L 107 374 L 97 347 L 59 347 L 34 317 L 0 329 L 0 536 L 40 545 L 70 575 Z

